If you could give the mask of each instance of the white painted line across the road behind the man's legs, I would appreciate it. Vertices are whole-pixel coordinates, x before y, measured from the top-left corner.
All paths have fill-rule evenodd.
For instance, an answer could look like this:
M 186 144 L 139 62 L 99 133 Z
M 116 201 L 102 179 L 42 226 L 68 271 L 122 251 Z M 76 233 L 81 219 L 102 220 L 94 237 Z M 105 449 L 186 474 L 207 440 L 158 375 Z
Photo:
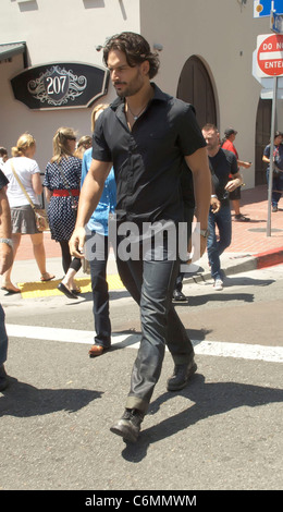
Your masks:
M 62 341 L 66 343 L 93 344 L 94 331 L 76 329 L 62 329 L 37 326 L 7 325 L 9 337 L 28 338 L 34 340 Z M 193 341 L 195 353 L 219 357 L 237 357 L 244 359 L 259 359 L 270 363 L 283 363 L 283 346 L 264 346 L 247 343 L 227 343 L 219 341 Z M 138 349 L 139 334 L 112 334 L 112 344 Z

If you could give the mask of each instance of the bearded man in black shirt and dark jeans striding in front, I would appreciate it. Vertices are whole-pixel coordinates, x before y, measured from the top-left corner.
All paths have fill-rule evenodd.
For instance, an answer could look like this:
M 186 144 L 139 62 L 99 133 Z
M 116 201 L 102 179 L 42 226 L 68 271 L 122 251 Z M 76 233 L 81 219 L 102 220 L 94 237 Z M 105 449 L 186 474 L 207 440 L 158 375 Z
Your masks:
M 180 175 L 185 158 L 194 176 L 202 254 L 211 178 L 206 143 L 194 109 L 162 93 L 150 82 L 158 72 L 159 59 L 140 35 L 122 33 L 108 39 L 103 60 L 118 98 L 101 113 L 96 125 L 93 162 L 82 188 L 76 228 L 71 239 L 72 253 L 79 256 L 83 249 L 84 225 L 96 208 L 112 164 L 116 179 L 118 233 L 123 231 L 125 222 L 132 222 L 139 233 L 145 223 L 165 223 L 172 231 L 174 228 L 177 231 L 184 215 Z M 118 236 L 118 242 L 121 244 L 124 237 Z M 148 236 L 145 251 L 143 237 L 142 234 L 139 258 L 121 258 L 118 254 L 121 279 L 140 306 L 142 339 L 126 409 L 111 431 L 132 442 L 137 440 L 159 379 L 165 344 L 174 361 L 169 390 L 184 388 L 196 371 L 193 345 L 172 306 L 180 257 L 169 256 L 172 248 L 169 247 L 169 234 L 163 236 L 159 247 L 161 257 L 160 251 L 156 257 Z

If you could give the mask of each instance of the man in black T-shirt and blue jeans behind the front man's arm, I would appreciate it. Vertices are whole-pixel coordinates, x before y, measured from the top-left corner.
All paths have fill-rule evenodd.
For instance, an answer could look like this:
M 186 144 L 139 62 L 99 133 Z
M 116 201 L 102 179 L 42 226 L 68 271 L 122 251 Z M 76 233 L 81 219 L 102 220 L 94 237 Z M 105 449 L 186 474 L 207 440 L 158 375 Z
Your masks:
M 211 206 L 209 211 L 207 240 L 208 259 L 211 267 L 211 277 L 214 280 L 214 290 L 223 289 L 223 279 L 220 268 L 220 255 L 231 244 L 232 222 L 229 193 L 239 186 L 243 181 L 238 172 L 237 160 L 233 153 L 220 147 L 219 131 L 213 124 L 202 127 L 202 135 L 207 142 L 209 167 L 212 176 L 212 197 L 219 203 L 218 208 Z M 233 180 L 230 181 L 230 175 Z M 217 237 L 216 227 L 219 231 Z

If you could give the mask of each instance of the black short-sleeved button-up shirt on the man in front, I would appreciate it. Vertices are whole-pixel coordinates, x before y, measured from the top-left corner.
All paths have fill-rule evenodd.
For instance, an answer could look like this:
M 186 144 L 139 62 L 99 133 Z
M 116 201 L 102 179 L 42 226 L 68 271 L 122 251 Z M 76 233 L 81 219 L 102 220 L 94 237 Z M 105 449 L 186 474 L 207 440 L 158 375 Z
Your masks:
M 118 220 L 179 222 L 184 220 L 180 184 L 184 156 L 205 147 L 206 142 L 194 108 L 151 85 L 155 96 L 132 131 L 123 99 L 116 98 L 100 114 L 93 158 L 113 162 Z

